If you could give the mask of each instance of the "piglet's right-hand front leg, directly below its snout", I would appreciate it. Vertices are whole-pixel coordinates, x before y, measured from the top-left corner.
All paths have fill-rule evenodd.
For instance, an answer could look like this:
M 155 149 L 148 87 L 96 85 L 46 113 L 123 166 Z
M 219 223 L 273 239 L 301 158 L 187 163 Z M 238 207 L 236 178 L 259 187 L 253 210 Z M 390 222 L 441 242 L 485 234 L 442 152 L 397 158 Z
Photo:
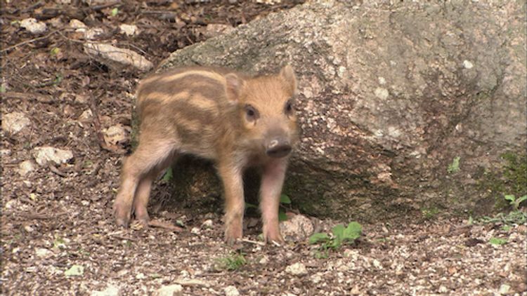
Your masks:
M 278 207 L 284 184 L 287 159 L 273 159 L 263 168 L 260 188 L 260 210 L 263 220 L 263 239 L 282 243 L 284 239 L 278 227 Z

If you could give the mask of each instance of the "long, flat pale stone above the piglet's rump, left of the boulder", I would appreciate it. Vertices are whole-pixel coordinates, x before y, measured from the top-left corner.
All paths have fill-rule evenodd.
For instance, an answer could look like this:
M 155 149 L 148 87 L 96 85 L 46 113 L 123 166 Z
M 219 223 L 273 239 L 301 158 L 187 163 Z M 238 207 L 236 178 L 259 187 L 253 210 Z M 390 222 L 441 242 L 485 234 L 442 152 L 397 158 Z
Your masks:
M 142 71 L 148 71 L 154 67 L 152 62 L 142 55 L 129 49 L 112 46 L 108 43 L 84 43 L 84 51 L 94 58 L 100 59 L 100 62 L 103 63 L 110 60 L 121 65 L 136 67 Z

